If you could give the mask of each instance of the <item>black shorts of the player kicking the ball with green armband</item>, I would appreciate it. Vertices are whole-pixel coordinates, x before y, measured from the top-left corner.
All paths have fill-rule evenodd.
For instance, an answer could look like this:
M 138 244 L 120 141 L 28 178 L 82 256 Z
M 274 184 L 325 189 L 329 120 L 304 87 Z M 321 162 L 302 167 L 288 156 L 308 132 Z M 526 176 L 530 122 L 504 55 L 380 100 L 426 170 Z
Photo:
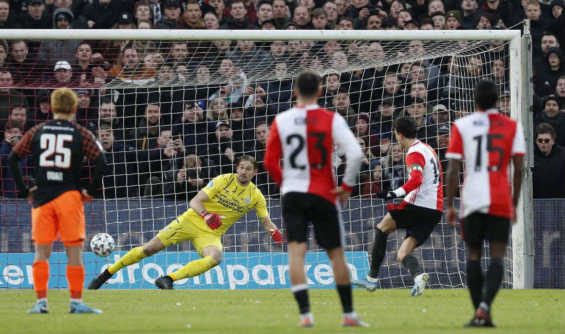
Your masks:
M 440 210 L 424 208 L 405 201 L 398 205 L 388 204 L 386 209 L 396 222 L 397 228 L 406 228 L 404 239 L 412 236 L 418 240 L 418 246 L 428 240 L 433 228 L 441 221 Z

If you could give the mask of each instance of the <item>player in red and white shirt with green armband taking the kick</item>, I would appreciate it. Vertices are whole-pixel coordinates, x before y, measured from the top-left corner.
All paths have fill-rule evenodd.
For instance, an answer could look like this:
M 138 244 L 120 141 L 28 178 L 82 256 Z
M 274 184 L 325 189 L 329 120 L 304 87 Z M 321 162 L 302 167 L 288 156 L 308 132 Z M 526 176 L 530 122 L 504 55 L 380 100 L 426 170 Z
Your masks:
M 416 133 L 416 123 L 411 117 L 400 117 L 394 121 L 394 137 L 400 146 L 408 151 L 406 166 L 410 171 L 410 179 L 394 191 L 379 193 L 379 197 L 383 199 L 407 195 L 398 206 L 388 204 L 388 213 L 375 231 L 371 270 L 366 280 L 353 282 L 357 287 L 366 288 L 371 292 L 377 288 L 377 277 L 386 252 L 386 238 L 397 228 L 406 228 L 406 238 L 398 249 L 397 259 L 414 278 L 414 288 L 410 295 L 420 296 L 429 279 L 429 275 L 423 273 L 412 252 L 429 238 L 433 228 L 440 222 L 444 208 L 444 191 L 441 164 L 436 152 L 428 144 L 416 139 Z

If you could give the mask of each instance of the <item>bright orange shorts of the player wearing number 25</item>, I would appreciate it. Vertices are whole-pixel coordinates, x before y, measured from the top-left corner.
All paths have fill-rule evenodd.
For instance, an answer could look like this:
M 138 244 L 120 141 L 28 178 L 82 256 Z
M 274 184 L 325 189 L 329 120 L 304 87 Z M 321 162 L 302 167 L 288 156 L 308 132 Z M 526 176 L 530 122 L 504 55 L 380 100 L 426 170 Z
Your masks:
M 57 240 L 68 246 L 82 245 L 84 240 L 84 207 L 77 190 L 63 192 L 56 199 L 32 210 L 32 239 L 46 245 Z

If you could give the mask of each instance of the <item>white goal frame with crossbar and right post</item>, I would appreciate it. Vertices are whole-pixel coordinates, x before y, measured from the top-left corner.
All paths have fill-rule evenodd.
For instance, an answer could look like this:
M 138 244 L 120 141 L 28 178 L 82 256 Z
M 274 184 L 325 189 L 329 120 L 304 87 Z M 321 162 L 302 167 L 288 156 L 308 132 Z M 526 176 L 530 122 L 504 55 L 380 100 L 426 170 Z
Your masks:
M 532 121 L 532 40 L 529 20 L 520 30 L 151 30 L 151 29 L 6 29 L 0 39 L 14 40 L 186 40 L 217 41 L 492 41 L 509 42 L 510 116 L 523 124 L 527 155 L 522 166 L 523 188 L 512 226 L 512 286 L 533 285 L 533 121 Z M 454 54 L 457 54 L 455 52 Z M 513 171 L 512 171 L 513 172 Z

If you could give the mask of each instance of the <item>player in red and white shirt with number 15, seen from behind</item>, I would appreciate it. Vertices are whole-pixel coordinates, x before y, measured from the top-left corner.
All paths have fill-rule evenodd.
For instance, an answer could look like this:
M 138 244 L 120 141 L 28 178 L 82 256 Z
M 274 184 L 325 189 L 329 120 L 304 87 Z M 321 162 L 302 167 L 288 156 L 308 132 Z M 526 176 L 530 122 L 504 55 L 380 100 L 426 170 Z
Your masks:
M 453 197 L 459 183 L 459 163 L 465 160 L 465 186 L 461 191 L 461 234 L 469 249 L 467 281 L 475 317 L 466 326 L 493 327 L 490 305 L 502 282 L 503 257 L 515 217 L 521 188 L 525 140 L 520 123 L 500 115 L 496 109 L 498 87 L 482 80 L 475 88 L 478 111 L 455 121 L 445 157 L 447 172 L 447 223 L 455 226 Z M 510 195 L 508 166 L 514 164 L 514 194 Z M 483 298 L 480 258 L 483 240 L 489 240 L 488 287 Z

